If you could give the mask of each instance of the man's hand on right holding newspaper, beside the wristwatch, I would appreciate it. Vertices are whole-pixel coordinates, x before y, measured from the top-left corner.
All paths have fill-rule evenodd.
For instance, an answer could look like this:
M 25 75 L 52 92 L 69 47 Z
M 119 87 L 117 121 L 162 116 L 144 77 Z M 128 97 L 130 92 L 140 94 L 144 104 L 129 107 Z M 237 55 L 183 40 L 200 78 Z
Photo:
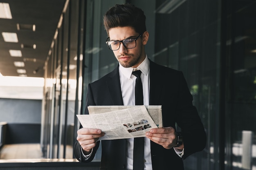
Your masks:
M 172 127 L 167 128 L 153 128 L 149 132 L 146 132 L 146 137 L 156 144 L 162 145 L 166 149 L 171 149 L 177 146 L 177 134 Z M 182 150 L 184 145 L 182 144 L 177 149 Z

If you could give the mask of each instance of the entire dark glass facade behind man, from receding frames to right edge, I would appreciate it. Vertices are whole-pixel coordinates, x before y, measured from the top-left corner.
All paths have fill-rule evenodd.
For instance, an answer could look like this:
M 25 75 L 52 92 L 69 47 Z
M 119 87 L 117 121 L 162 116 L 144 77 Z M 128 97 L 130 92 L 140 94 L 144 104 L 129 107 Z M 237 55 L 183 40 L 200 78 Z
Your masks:
M 103 14 L 126 2 L 144 10 L 150 60 L 184 73 L 207 132 L 185 170 L 255 170 L 255 0 L 67 0 L 44 68 L 44 157 L 73 158 L 87 86 L 118 64 Z

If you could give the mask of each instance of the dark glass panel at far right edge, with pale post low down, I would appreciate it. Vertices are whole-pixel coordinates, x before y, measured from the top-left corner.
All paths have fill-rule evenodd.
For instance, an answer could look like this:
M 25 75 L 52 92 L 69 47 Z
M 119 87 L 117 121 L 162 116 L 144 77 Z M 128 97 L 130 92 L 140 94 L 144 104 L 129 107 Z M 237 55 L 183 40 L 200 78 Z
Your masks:
M 256 1 L 227 1 L 226 168 L 256 170 Z

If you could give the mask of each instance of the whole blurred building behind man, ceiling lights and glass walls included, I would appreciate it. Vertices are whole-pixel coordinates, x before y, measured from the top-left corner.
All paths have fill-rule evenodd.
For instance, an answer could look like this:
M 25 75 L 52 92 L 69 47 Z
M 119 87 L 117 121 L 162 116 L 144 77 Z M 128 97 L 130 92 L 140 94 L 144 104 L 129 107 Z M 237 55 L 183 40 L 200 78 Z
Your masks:
M 255 0 L 0 0 L 0 167 L 99 169 L 100 150 L 73 159 L 76 114 L 118 64 L 102 18 L 125 2 L 145 12 L 148 57 L 184 73 L 207 132 L 185 170 L 256 170 Z

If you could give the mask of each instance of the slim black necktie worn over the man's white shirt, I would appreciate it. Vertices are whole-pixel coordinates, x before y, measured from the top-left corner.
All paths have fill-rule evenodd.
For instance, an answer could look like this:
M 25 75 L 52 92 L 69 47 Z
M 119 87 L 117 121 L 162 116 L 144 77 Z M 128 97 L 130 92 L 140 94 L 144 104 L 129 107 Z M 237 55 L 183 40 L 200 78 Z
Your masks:
M 133 71 L 133 75 L 136 78 L 135 84 L 135 105 L 143 105 L 143 90 L 141 83 L 141 71 Z M 134 138 L 134 148 L 133 148 L 133 170 L 143 170 L 144 169 L 144 137 Z

